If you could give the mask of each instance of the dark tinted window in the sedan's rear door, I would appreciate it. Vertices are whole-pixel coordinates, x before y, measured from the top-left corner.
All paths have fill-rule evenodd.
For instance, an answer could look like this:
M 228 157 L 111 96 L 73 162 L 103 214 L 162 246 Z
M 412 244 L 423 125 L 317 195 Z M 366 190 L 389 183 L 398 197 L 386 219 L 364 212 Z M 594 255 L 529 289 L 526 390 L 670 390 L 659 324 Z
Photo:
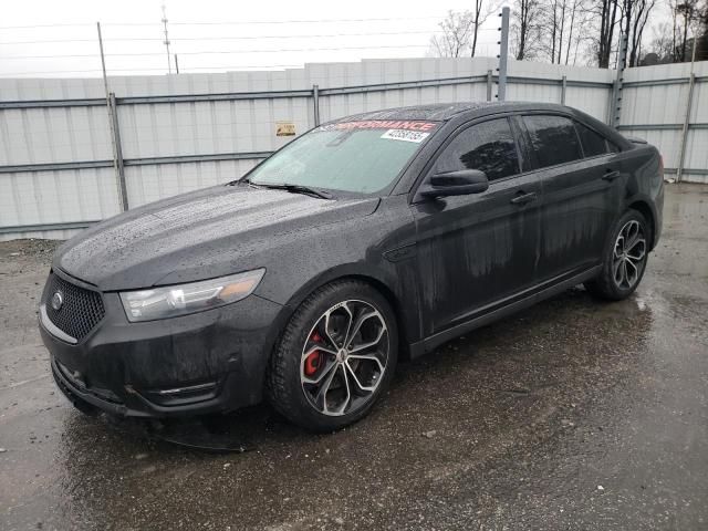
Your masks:
M 524 116 L 531 146 L 540 167 L 555 166 L 583 158 L 573 122 L 563 116 Z

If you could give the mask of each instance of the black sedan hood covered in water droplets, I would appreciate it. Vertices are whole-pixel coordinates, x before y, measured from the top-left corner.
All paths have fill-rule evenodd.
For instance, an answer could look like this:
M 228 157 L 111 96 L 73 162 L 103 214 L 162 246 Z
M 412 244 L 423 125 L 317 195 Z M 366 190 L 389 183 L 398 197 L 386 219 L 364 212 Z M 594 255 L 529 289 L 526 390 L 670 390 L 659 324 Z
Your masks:
M 377 198 L 325 200 L 217 186 L 121 214 L 60 247 L 53 268 L 103 291 L 132 290 L 268 268 L 282 241 L 372 214 Z

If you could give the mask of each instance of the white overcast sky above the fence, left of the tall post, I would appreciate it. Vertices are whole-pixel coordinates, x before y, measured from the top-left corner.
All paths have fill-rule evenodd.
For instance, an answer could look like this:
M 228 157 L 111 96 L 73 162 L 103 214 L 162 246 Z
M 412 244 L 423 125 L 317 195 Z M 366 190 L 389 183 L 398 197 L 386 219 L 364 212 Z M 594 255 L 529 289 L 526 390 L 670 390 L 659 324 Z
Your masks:
M 472 4 L 471 0 L 4 0 L 0 76 L 101 75 L 97 21 L 108 75 L 162 75 L 167 72 L 163 3 L 170 53 L 178 55 L 180 72 L 425 56 L 447 10 Z M 480 31 L 478 55 L 497 55 L 498 25 L 494 13 Z

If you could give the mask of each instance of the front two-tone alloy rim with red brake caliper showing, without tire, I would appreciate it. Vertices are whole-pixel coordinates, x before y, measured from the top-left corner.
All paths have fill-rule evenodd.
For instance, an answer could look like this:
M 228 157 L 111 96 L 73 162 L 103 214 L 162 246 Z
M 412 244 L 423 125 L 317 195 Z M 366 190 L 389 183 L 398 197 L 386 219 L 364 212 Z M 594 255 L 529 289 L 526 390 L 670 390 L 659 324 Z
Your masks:
M 388 329 L 371 303 L 340 302 L 315 322 L 300 360 L 300 382 L 319 413 L 347 415 L 364 407 L 383 381 Z

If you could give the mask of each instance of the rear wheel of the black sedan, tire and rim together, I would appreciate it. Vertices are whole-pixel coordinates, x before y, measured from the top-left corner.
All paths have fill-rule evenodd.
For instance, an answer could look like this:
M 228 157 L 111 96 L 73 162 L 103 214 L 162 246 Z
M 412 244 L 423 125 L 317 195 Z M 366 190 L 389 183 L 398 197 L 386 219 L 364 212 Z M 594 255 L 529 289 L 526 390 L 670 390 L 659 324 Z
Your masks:
M 621 301 L 634 293 L 646 271 L 650 238 L 649 225 L 642 212 L 627 210 L 612 231 L 601 273 L 585 282 L 585 289 L 610 301 Z

